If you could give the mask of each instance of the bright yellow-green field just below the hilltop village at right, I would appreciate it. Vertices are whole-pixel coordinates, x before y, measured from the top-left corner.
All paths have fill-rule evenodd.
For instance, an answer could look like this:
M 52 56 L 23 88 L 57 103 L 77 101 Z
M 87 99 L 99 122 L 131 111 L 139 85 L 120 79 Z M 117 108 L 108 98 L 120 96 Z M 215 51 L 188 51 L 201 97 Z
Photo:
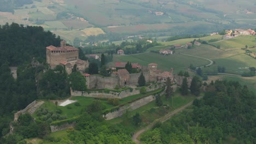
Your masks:
M 256 37 L 253 35 L 240 35 L 239 37 L 226 39 L 222 41 L 217 41 L 211 43 L 215 46 L 220 46 L 220 49 L 228 50 L 228 49 L 235 49 L 235 48 L 245 48 L 246 45 L 248 47 L 256 46 Z

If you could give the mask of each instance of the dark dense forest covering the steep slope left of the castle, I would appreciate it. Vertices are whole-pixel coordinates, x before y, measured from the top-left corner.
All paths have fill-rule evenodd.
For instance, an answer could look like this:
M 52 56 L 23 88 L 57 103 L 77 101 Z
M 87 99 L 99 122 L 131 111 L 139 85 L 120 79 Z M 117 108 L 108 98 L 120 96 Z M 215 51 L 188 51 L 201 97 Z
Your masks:
M 45 32 L 42 27 L 25 27 L 17 23 L 0 26 L 0 137 L 9 133 L 13 111 L 24 109 L 37 99 L 38 95 L 43 97 L 45 93 L 57 94 L 51 89 L 43 91 L 44 87 L 56 85 L 62 79 L 67 79 L 51 79 L 48 85 L 36 85 L 36 80 L 39 80 L 40 76 L 49 78 L 48 73 L 40 73 L 47 68 L 44 64 L 45 46 L 59 44 L 60 38 L 56 38 L 51 32 Z M 40 62 L 38 67 L 32 67 L 33 58 Z M 16 80 L 9 69 L 11 65 L 18 66 Z M 42 94 L 38 89 L 42 89 Z

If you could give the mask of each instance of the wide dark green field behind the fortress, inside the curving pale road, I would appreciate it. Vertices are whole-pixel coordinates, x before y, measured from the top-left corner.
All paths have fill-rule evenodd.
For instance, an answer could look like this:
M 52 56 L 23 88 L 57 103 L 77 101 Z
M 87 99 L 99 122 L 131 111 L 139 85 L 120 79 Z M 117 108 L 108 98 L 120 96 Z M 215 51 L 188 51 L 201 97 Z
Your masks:
M 184 55 L 169 55 L 164 56 L 160 55 L 159 53 L 140 53 L 136 55 L 126 55 L 126 56 L 114 56 L 114 62 L 127 62 L 130 61 L 132 63 L 139 63 L 141 65 L 147 65 L 149 63 L 157 63 L 158 69 L 161 70 L 170 70 L 171 68 L 174 69 L 174 72 L 178 72 L 179 70 L 187 70 L 190 64 L 194 66 L 201 66 L 208 64 L 205 59 L 196 58 L 196 57 L 189 57 Z

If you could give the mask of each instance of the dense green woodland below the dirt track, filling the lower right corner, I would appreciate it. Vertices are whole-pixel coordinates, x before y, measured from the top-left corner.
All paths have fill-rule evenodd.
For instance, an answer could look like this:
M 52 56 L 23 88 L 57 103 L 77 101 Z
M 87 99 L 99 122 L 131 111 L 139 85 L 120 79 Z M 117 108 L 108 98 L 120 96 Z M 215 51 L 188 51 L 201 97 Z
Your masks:
M 144 143 L 235 143 L 256 142 L 256 97 L 234 81 L 216 81 L 205 97 L 194 100 L 183 112 L 142 135 Z

